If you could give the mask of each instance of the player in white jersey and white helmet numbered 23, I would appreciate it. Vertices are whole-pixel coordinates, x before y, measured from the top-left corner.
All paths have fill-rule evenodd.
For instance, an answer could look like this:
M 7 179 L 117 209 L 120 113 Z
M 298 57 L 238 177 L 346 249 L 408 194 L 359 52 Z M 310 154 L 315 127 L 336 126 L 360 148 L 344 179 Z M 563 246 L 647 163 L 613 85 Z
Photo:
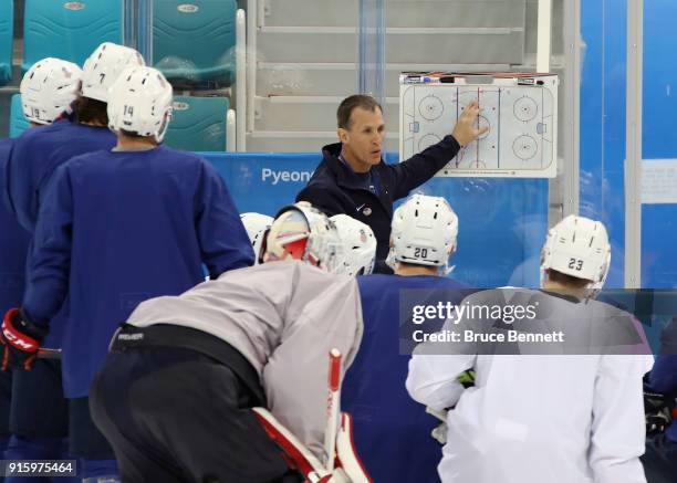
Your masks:
M 604 225 L 570 216 L 548 234 L 542 291 L 486 291 L 464 301 L 482 307 L 504 298 L 537 307 L 535 318 L 508 324 L 506 316 L 461 316 L 445 326 L 476 334 L 477 327 L 493 334 L 506 326 L 520 333 L 555 327 L 566 330 L 564 340 L 518 345 L 522 355 L 510 345 L 472 340 L 451 354 L 434 343 L 416 348 L 412 397 L 437 410 L 456 405 L 438 466 L 442 482 L 645 482 L 642 377 L 652 358 L 627 355 L 649 354 L 629 314 L 590 298 L 604 284 L 610 260 Z M 475 387 L 464 391 L 457 378 L 467 369 L 476 371 Z

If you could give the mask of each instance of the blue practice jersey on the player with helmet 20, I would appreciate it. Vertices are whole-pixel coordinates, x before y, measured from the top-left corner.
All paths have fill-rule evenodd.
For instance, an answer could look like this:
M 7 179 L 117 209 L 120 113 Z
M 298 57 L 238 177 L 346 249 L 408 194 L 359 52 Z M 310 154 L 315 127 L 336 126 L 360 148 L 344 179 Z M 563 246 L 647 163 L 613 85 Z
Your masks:
M 400 291 L 429 294 L 423 302 L 430 305 L 437 298 L 458 304 L 470 291 L 441 276 L 377 274 L 357 280 L 364 336 L 345 375 L 341 407 L 354 418 L 360 456 L 375 482 L 439 482 L 441 444 L 430 437 L 430 431 L 440 421 L 427 414 L 405 388 L 410 356 L 399 354 L 400 337 L 409 338 L 412 327 L 399 326 Z M 441 328 L 441 323 L 436 329 Z M 434 332 L 429 326 L 426 330 Z

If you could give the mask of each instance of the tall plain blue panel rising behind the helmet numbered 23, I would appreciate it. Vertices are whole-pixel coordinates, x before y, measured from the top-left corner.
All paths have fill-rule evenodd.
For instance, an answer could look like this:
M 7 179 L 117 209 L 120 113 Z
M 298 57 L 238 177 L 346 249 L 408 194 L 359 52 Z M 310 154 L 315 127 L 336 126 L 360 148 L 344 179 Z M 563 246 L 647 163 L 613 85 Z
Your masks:
M 581 209 L 602 221 L 612 245 L 606 287 L 623 287 L 626 4 L 581 2 Z

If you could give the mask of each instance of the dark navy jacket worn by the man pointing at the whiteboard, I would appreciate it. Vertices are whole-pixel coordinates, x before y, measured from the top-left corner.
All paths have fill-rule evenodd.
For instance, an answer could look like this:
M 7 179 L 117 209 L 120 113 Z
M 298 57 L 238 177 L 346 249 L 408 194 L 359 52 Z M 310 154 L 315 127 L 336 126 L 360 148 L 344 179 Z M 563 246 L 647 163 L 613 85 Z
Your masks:
M 435 176 L 459 149 L 456 139 L 446 136 L 404 162 L 386 165 L 382 159 L 368 175 L 360 175 L 338 160 L 341 143 L 332 144 L 322 149 L 324 159 L 296 195 L 296 201 L 309 201 L 330 217 L 345 213 L 368 224 L 378 243 L 376 261 L 382 262 L 388 255 L 393 202 Z M 365 187 L 365 176 L 371 176 L 377 195 Z

